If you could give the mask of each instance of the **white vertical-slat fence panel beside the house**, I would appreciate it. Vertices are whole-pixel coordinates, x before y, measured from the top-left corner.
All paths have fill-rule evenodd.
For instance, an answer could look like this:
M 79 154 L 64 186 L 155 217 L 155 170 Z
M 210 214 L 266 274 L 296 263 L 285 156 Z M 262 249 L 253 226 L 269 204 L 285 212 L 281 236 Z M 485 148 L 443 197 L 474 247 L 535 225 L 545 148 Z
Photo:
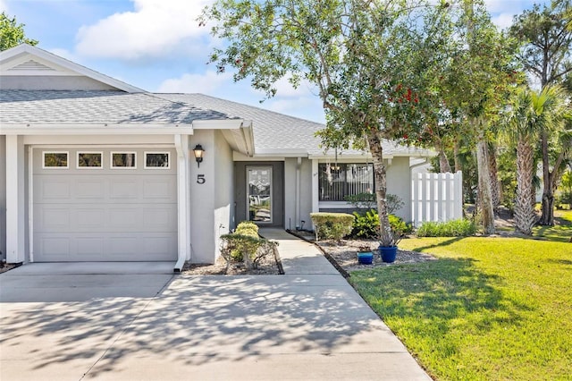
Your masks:
M 463 174 L 413 174 L 411 219 L 415 226 L 425 221 L 450 221 L 463 216 Z

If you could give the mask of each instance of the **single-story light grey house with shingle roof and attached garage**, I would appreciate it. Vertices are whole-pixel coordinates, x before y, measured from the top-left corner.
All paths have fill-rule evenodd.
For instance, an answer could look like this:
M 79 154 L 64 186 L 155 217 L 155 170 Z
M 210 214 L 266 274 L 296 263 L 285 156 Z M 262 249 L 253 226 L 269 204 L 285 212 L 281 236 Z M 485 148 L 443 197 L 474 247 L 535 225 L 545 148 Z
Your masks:
M 311 228 L 373 190 L 371 158 L 325 152 L 324 127 L 201 94 L 157 94 L 38 47 L 0 53 L 0 251 L 9 263 L 212 263 L 242 220 Z M 383 143 L 406 201 L 412 159 Z M 198 157 L 196 157 L 196 155 Z

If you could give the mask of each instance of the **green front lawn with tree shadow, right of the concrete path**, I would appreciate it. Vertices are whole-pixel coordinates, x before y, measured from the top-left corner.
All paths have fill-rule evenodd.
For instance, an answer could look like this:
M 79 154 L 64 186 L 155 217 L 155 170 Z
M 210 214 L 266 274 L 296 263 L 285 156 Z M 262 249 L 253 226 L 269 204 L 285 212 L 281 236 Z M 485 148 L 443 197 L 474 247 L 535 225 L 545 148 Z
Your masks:
M 572 379 L 572 243 L 422 238 L 400 248 L 439 259 L 349 280 L 432 377 Z

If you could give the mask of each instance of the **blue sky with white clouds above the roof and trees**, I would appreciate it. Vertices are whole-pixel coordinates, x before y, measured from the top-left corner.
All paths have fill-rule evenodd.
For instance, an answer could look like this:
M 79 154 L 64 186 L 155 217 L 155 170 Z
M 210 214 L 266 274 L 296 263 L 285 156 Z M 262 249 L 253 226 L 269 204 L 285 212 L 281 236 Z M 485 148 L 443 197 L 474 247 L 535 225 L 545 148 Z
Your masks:
M 311 1 L 311 0 L 309 0 Z M 202 93 L 282 114 L 324 123 L 315 89 L 278 84 L 276 97 L 265 99 L 248 80 L 233 82 L 207 64 L 213 47 L 209 28 L 196 18 L 213 0 L 0 0 L 0 12 L 25 24 L 38 47 L 89 69 L 152 92 Z M 486 0 L 501 28 L 534 0 Z M 536 0 L 536 3 L 545 3 Z

